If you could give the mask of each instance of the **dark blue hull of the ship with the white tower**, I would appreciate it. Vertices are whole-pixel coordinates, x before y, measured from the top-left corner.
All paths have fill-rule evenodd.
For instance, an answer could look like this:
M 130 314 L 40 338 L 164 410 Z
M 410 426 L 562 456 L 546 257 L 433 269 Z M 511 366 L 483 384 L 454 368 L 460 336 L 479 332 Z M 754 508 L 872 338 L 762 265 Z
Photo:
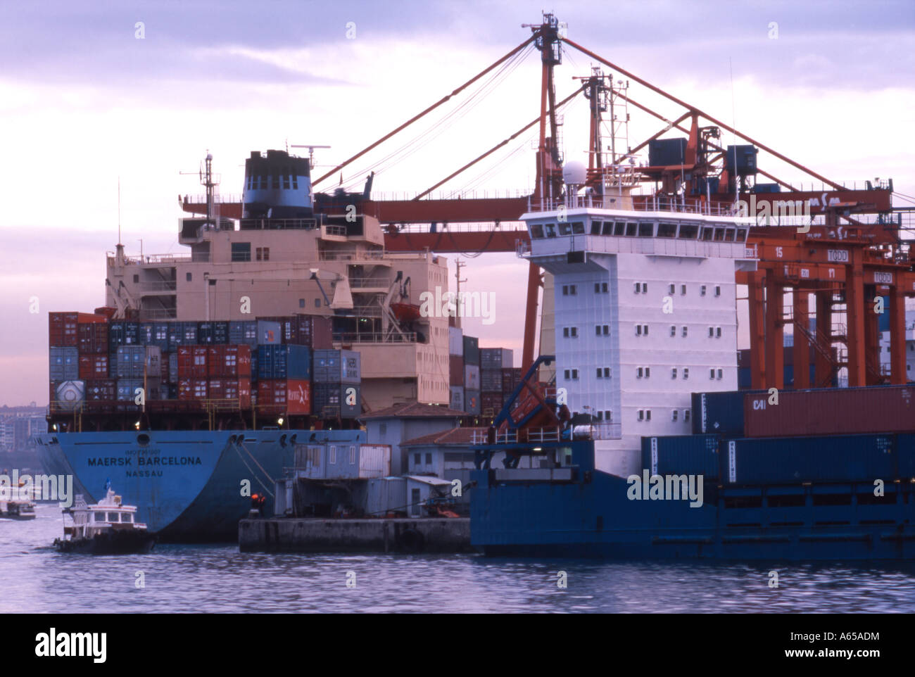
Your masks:
M 887 482 L 879 500 L 871 498 L 873 481 L 755 488 L 706 482 L 703 504 L 693 508 L 689 500 L 630 500 L 626 479 L 594 469 L 593 443 L 562 446 L 573 447 L 562 480 L 546 478 L 546 470 L 471 472 L 476 549 L 620 559 L 915 558 L 911 482 Z

